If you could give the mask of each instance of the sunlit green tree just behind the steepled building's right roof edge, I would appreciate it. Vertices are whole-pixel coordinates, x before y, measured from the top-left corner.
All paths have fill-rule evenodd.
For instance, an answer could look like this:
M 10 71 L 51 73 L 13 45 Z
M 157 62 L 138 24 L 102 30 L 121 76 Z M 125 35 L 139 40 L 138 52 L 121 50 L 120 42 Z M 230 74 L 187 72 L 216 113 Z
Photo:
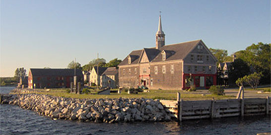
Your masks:
M 213 49 L 213 48 L 209 48 L 209 50 L 215 56 L 215 58 L 218 60 L 217 61 L 218 63 L 225 62 L 225 61 L 227 61 L 229 59 L 229 57 L 228 57 L 228 51 L 227 50 L 224 50 L 224 49 Z

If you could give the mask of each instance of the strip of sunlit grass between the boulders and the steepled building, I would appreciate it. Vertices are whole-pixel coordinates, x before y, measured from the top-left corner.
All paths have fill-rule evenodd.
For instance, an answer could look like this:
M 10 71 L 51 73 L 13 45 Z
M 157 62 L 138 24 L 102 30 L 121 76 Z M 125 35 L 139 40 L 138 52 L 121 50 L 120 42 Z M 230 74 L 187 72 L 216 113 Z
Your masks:
M 118 93 L 110 93 L 110 95 L 98 95 L 98 94 L 73 94 L 67 93 L 67 89 L 52 89 L 51 91 L 42 91 L 37 92 L 39 94 L 48 94 L 54 96 L 61 96 L 61 97 L 71 97 L 71 98 L 151 98 L 151 99 L 166 99 L 166 100 L 176 100 L 177 92 L 181 93 L 181 98 L 183 100 L 211 100 L 212 97 L 214 99 L 232 99 L 235 96 L 226 96 L 226 95 L 211 95 L 211 94 L 197 94 L 197 91 L 186 92 L 182 90 L 150 90 L 150 92 L 138 92 L 138 94 L 128 94 L 124 90 L 121 94 Z

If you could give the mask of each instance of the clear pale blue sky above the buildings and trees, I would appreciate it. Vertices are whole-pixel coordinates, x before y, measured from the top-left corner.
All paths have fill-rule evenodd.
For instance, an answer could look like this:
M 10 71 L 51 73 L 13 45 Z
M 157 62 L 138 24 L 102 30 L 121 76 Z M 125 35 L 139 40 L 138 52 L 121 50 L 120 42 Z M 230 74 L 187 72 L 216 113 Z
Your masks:
M 0 76 L 17 67 L 66 68 L 99 56 L 124 59 L 155 46 L 202 39 L 231 54 L 270 43 L 270 0 L 1 0 Z M 28 71 L 27 71 L 28 74 Z

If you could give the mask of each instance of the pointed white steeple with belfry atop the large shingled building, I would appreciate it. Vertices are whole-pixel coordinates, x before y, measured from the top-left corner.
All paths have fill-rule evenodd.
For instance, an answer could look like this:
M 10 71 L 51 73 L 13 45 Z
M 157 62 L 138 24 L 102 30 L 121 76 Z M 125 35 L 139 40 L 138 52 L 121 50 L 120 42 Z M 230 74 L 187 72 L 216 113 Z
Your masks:
M 155 37 L 156 37 L 156 49 L 160 49 L 162 46 L 165 45 L 165 34 L 162 31 L 161 23 L 161 11 L 159 15 L 158 31 L 156 32 Z

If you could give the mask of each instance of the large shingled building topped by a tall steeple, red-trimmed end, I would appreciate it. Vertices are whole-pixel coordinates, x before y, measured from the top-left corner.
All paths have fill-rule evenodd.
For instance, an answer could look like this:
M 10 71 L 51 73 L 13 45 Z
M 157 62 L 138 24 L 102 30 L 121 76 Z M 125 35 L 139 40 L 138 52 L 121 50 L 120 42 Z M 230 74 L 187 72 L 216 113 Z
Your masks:
M 165 45 L 159 16 L 156 47 L 132 51 L 119 65 L 119 86 L 180 90 L 216 85 L 217 59 L 202 40 Z

